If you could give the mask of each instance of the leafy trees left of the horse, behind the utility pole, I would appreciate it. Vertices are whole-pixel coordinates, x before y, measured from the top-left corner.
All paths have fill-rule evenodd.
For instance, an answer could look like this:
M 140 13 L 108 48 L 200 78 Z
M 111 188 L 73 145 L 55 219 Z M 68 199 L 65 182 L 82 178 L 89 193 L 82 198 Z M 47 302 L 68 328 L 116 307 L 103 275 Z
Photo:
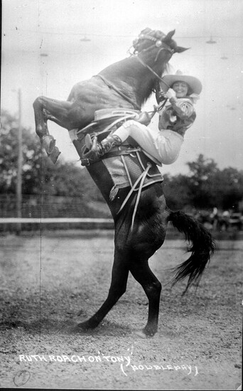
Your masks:
M 18 122 L 2 110 L 0 134 L 0 193 L 15 194 L 18 168 Z M 87 170 L 67 162 L 50 162 L 40 140 L 23 128 L 23 194 L 77 196 L 104 201 Z

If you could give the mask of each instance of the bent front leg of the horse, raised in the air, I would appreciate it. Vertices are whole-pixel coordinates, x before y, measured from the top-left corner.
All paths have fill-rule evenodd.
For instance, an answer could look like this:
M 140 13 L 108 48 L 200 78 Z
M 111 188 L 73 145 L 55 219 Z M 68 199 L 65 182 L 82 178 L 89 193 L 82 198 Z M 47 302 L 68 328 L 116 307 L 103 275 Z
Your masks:
M 70 107 L 71 102 L 51 100 L 47 97 L 38 97 L 33 102 L 36 133 L 40 137 L 41 144 L 53 163 L 58 160 L 60 151 L 55 146 L 55 139 L 49 134 L 47 121 L 50 119 L 62 127 L 67 127 Z

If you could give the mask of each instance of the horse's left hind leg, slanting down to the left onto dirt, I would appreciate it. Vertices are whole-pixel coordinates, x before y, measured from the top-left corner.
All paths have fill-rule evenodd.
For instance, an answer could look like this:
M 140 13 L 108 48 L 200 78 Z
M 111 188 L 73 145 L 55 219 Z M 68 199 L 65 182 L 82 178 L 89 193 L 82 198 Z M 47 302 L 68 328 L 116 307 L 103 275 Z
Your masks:
M 125 293 L 128 274 L 129 266 L 126 263 L 126 257 L 115 251 L 114 264 L 112 267 L 112 282 L 107 299 L 96 314 L 87 321 L 79 323 L 76 326 L 75 331 L 86 331 L 99 325 L 104 316 L 108 314 L 114 304 L 116 304 L 119 298 Z

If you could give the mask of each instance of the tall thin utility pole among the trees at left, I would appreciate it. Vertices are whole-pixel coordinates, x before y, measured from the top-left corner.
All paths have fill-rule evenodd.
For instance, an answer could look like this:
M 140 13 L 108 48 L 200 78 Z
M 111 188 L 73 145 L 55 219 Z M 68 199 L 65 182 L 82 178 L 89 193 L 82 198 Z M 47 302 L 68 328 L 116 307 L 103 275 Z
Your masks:
M 22 97 L 21 89 L 18 89 L 18 171 L 17 171 L 17 184 L 16 184 L 16 195 L 17 195 L 17 218 L 22 217 L 22 166 L 23 166 L 23 136 L 22 136 L 22 125 L 21 125 L 21 110 L 22 110 Z M 17 224 L 17 235 L 21 232 L 21 223 Z

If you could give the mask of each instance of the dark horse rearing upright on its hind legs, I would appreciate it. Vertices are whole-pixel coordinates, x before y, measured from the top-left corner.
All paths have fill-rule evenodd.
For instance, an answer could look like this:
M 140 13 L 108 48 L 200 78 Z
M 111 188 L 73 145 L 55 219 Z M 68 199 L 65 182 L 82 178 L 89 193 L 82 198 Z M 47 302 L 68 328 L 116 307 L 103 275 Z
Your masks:
M 186 50 L 178 47 L 173 41 L 174 33 L 175 31 L 171 31 L 165 35 L 161 31 L 146 28 L 134 41 L 134 55 L 110 65 L 90 80 L 77 83 L 72 88 L 67 102 L 38 97 L 33 103 L 36 132 L 50 159 L 55 163 L 59 151 L 53 136 L 48 133 L 48 119 L 70 131 L 82 164 L 87 165 L 87 170 L 104 196 L 114 218 L 114 264 L 109 294 L 94 316 L 77 325 L 77 331 L 98 326 L 126 291 L 126 282 L 131 272 L 148 297 L 148 322 L 142 335 L 153 336 L 156 333 L 161 283 L 151 272 L 148 259 L 163 245 L 169 221 L 180 232 L 184 232 L 186 239 L 192 243 L 188 250 L 191 255 L 187 261 L 176 268 L 174 282 L 189 277 L 187 288 L 193 282 L 197 284 L 210 260 L 210 255 L 215 250 L 210 233 L 202 225 L 185 213 L 172 212 L 167 208 L 161 178 L 148 182 L 144 186 L 144 179 L 150 169 L 152 169 L 150 180 L 153 177 L 158 178 L 156 173 L 158 168 L 151 160 L 146 160 L 147 168 L 144 168 L 146 173 L 141 173 L 141 187 L 139 190 L 136 189 L 137 193 L 131 191 L 131 183 L 131 186 L 128 184 L 117 188 L 117 193 L 111 196 L 114 181 L 105 163 L 109 159 L 117 159 L 114 157 L 115 154 L 112 155 L 113 158 L 109 155 L 109 159 L 105 159 L 108 156 L 104 156 L 104 160 L 95 163 L 84 159 L 85 134 L 88 132 L 99 134 L 107 125 L 105 121 L 94 122 L 95 112 L 107 108 L 122 108 L 125 113 L 129 110 L 130 112 L 140 110 L 141 105 L 155 90 L 159 75 L 163 75 L 173 53 Z M 101 138 L 106 135 L 102 134 Z M 130 147 L 133 148 L 134 145 Z M 117 152 L 120 161 L 124 162 L 123 153 L 127 157 L 131 151 L 134 151 L 130 148 L 128 152 L 127 148 L 129 146 L 126 147 L 126 151 Z M 134 155 L 131 153 L 131 156 Z M 138 166 L 139 164 L 136 164 L 136 168 Z

